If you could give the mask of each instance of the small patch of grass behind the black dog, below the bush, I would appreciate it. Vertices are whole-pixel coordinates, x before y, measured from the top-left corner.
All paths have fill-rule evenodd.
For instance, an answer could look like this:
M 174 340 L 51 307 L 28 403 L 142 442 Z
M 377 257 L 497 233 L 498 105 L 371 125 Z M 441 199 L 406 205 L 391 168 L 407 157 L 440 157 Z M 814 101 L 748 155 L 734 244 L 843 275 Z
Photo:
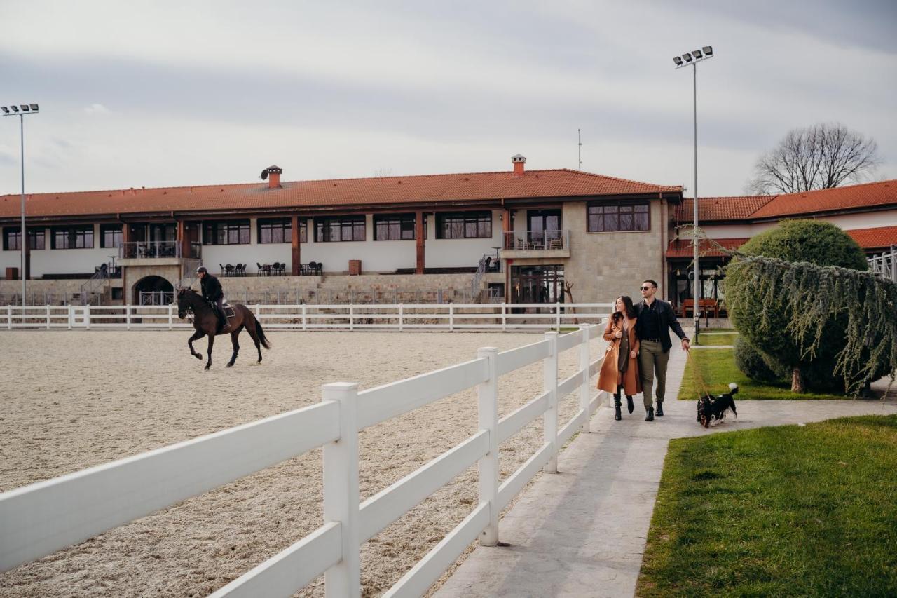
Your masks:
M 712 337 L 705 337 L 711 339 Z M 805 399 L 850 399 L 840 394 L 823 394 L 815 392 L 792 392 L 790 383 L 764 384 L 754 382 L 742 373 L 735 365 L 735 349 L 695 349 L 685 364 L 682 386 L 679 387 L 679 399 L 696 400 L 698 390 L 695 386 L 692 368 L 697 363 L 701 367 L 701 376 L 713 394 L 728 391 L 728 383 L 738 384 L 736 404 L 739 400 L 805 400 Z

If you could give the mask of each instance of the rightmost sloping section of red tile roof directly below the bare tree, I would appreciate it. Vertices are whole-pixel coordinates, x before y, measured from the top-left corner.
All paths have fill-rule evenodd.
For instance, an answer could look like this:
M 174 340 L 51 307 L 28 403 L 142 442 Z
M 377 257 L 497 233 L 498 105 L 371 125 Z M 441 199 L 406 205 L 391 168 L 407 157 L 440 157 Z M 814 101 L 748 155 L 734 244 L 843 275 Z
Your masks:
M 897 204 L 897 180 L 883 180 L 863 185 L 851 185 L 850 187 L 779 195 L 754 212 L 751 217 L 769 218 L 813 214 L 814 212 L 886 206 L 889 204 Z

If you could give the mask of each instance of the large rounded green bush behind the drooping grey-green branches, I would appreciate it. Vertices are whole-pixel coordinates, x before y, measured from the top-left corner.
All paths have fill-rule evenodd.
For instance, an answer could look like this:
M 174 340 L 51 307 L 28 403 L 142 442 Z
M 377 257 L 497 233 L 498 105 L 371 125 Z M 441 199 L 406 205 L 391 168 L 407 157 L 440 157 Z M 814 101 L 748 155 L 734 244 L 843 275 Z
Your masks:
M 834 224 L 815 220 L 787 220 L 746 242 L 741 251 L 787 261 L 804 261 L 818 266 L 840 266 L 867 270 L 866 256 L 857 242 Z M 788 324 L 800 313 L 788 311 L 787 296 L 763 291 L 751 268 L 737 259 L 727 268 L 726 289 L 729 314 L 736 329 L 753 347 L 790 372 L 797 369 L 806 387 L 816 391 L 843 391 L 845 381 L 834 375 L 836 356 L 844 347 L 847 316 L 823 322 L 825 334 L 814 356 L 805 356 L 800 339 L 788 331 Z M 812 293 L 813 289 L 809 289 Z M 762 322 L 763 325 L 760 325 Z M 745 360 L 745 366 L 750 367 Z M 752 362 L 753 364 L 753 362 Z M 773 370 L 776 368 L 774 367 Z M 747 374 L 747 371 L 745 371 Z M 789 376 L 786 376 L 786 378 Z

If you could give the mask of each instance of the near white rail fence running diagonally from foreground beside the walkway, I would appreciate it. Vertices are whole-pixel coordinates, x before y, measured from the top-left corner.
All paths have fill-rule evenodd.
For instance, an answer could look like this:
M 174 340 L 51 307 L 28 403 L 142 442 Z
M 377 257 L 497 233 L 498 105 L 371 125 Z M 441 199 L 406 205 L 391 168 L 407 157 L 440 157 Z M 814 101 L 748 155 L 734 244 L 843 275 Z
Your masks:
M 473 361 L 367 391 L 326 384 L 322 401 L 311 407 L 0 494 L 0 571 L 323 446 L 325 523 L 213 595 L 290 596 L 326 573 L 327 596 L 358 597 L 361 544 L 478 463 L 478 504 L 385 594 L 420 596 L 478 537 L 494 546 L 501 509 L 539 470 L 557 472 L 559 448 L 577 431 L 589 431 L 602 394 L 592 396 L 590 378 L 604 355 L 590 361 L 588 340 L 599 330 L 546 332 L 543 340 L 501 353 L 481 348 Z M 574 347 L 579 371 L 559 382 L 558 355 Z M 499 376 L 539 361 L 538 396 L 499 418 Z M 360 503 L 359 431 L 474 386 L 477 433 Z M 574 391 L 579 410 L 559 429 L 558 402 Z M 500 484 L 499 444 L 540 416 L 543 444 Z

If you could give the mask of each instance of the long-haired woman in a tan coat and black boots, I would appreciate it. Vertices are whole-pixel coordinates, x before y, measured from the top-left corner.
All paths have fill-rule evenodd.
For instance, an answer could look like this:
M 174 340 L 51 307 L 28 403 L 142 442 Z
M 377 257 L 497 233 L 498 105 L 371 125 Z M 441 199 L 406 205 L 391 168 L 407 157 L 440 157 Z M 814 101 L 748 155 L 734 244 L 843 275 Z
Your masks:
M 639 338 L 635 334 L 635 308 L 630 297 L 617 297 L 614 315 L 607 321 L 605 340 L 610 341 L 598 374 L 598 389 L 614 393 L 614 419 L 620 420 L 620 391 L 632 412 L 632 395 L 641 392 Z

